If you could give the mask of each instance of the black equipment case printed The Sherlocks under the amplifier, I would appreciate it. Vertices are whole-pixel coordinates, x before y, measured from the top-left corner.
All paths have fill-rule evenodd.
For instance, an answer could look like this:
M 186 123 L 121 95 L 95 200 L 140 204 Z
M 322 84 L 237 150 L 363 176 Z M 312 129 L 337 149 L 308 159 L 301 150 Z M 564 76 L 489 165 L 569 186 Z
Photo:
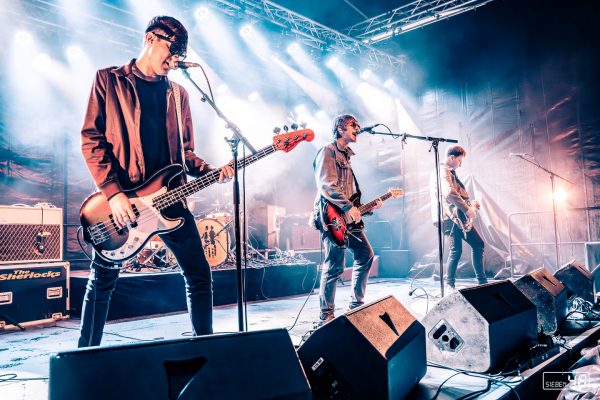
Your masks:
M 0 329 L 69 314 L 69 263 L 0 265 Z

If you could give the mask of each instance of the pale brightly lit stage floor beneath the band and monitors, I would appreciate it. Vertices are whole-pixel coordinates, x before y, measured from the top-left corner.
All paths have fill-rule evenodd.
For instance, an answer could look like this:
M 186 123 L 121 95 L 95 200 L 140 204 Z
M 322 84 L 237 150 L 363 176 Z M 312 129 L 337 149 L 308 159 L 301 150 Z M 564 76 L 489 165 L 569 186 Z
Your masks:
M 422 290 L 409 296 L 412 288 Z M 458 282 L 458 287 L 474 284 L 471 281 Z M 348 284 L 337 288 L 336 315 L 343 314 L 350 300 Z M 366 302 L 387 295 L 394 295 L 411 313 L 421 319 L 428 309 L 439 300 L 439 282 L 432 279 L 372 279 L 366 293 Z M 417 296 L 417 294 L 420 294 Z M 306 302 L 306 305 L 304 306 Z M 304 307 L 303 307 L 304 306 Z M 266 300 L 248 304 L 248 330 L 287 328 L 294 344 L 314 328 L 318 319 L 318 295 L 298 295 L 281 299 Z M 238 331 L 237 308 L 235 305 L 219 306 L 214 310 L 214 330 L 219 332 Z M 26 331 L 4 331 L 0 333 L 0 399 L 46 399 L 48 397 L 49 357 L 51 354 L 71 350 L 77 346 L 79 320 L 60 321 L 54 325 L 32 326 Z M 191 326 L 187 313 L 154 315 L 138 319 L 111 321 L 105 328 L 103 345 L 125 344 L 157 339 L 177 339 L 189 336 Z M 597 331 L 588 334 L 597 335 Z M 589 336 L 590 340 L 592 336 Z M 583 339 L 582 339 L 583 340 Z M 351 349 L 349 349 L 351 351 Z M 143 369 L 143 366 L 140 366 Z M 131 371 L 132 374 L 143 371 Z M 14 375 L 11 375 L 14 374 Z M 414 399 L 429 399 L 452 371 L 429 367 L 427 375 L 415 391 Z M 10 380 L 17 378 L 20 380 Z M 486 381 L 479 378 L 460 377 L 444 384 L 439 399 L 453 399 L 481 390 Z M 502 385 L 478 398 L 496 399 L 506 396 L 510 389 Z M 558 392 L 555 392 L 555 396 Z M 537 397 L 537 396 L 536 396 Z M 540 397 L 541 398 L 541 397 Z M 556 398 L 556 397 L 554 397 Z

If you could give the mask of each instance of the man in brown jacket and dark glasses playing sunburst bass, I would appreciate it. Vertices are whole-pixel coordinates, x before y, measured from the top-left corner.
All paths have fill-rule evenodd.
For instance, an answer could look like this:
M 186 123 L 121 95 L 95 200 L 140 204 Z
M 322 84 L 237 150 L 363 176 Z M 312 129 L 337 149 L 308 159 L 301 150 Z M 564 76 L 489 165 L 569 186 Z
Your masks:
M 183 165 L 187 174 L 203 175 L 214 168 L 194 153 L 194 133 L 188 94 L 169 81 L 174 62 L 185 57 L 188 34 L 175 18 L 153 18 L 144 35 L 140 56 L 121 67 L 96 73 L 81 130 L 81 148 L 98 189 L 106 196 L 119 228 L 136 216 L 123 190 L 139 186 L 169 164 Z M 233 176 L 221 168 L 220 182 Z M 180 175 L 180 183 L 185 174 Z M 212 277 L 194 217 L 185 205 L 167 215 L 183 225 L 161 234 L 173 252 L 185 280 L 194 334 L 212 333 Z M 94 257 L 81 313 L 79 347 L 96 346 L 108 315 L 119 269 Z

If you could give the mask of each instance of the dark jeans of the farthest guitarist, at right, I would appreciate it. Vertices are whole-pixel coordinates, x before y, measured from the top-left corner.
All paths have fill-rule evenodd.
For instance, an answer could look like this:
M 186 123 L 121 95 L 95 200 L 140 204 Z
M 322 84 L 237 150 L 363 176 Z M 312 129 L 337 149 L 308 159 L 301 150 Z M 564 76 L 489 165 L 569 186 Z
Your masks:
M 450 286 L 454 286 L 456 283 L 456 268 L 458 267 L 458 261 L 462 256 L 462 241 L 464 240 L 471 246 L 471 256 L 473 258 L 473 269 L 475 269 L 475 276 L 477 282 L 480 284 L 487 283 L 485 277 L 485 271 L 483 269 L 483 254 L 485 243 L 477 232 L 475 227 L 471 228 L 467 232 L 465 237 L 463 231 L 450 220 L 443 222 L 444 234 L 450 238 L 450 252 L 448 254 L 448 278 L 447 283 Z

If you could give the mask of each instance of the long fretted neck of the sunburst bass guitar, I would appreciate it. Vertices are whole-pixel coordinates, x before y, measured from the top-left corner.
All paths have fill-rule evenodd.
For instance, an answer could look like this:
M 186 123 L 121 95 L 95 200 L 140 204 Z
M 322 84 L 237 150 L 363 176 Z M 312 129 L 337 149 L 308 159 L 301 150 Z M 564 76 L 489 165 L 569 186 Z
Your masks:
M 254 154 L 240 159 L 238 161 L 238 170 L 247 167 L 248 165 L 260 160 L 261 158 L 274 153 L 275 151 L 277 151 L 277 148 L 274 145 L 270 145 L 263 149 L 260 149 Z M 165 194 L 156 196 L 153 199 L 153 206 L 158 210 L 163 210 L 169 206 L 172 206 L 173 204 L 182 201 L 186 197 L 191 196 L 192 194 L 204 189 L 205 187 L 217 183 L 219 181 L 220 174 L 220 168 L 212 170 L 206 175 L 201 176 L 200 178 L 187 182 L 186 184 L 181 185 L 176 189 L 169 190 Z

